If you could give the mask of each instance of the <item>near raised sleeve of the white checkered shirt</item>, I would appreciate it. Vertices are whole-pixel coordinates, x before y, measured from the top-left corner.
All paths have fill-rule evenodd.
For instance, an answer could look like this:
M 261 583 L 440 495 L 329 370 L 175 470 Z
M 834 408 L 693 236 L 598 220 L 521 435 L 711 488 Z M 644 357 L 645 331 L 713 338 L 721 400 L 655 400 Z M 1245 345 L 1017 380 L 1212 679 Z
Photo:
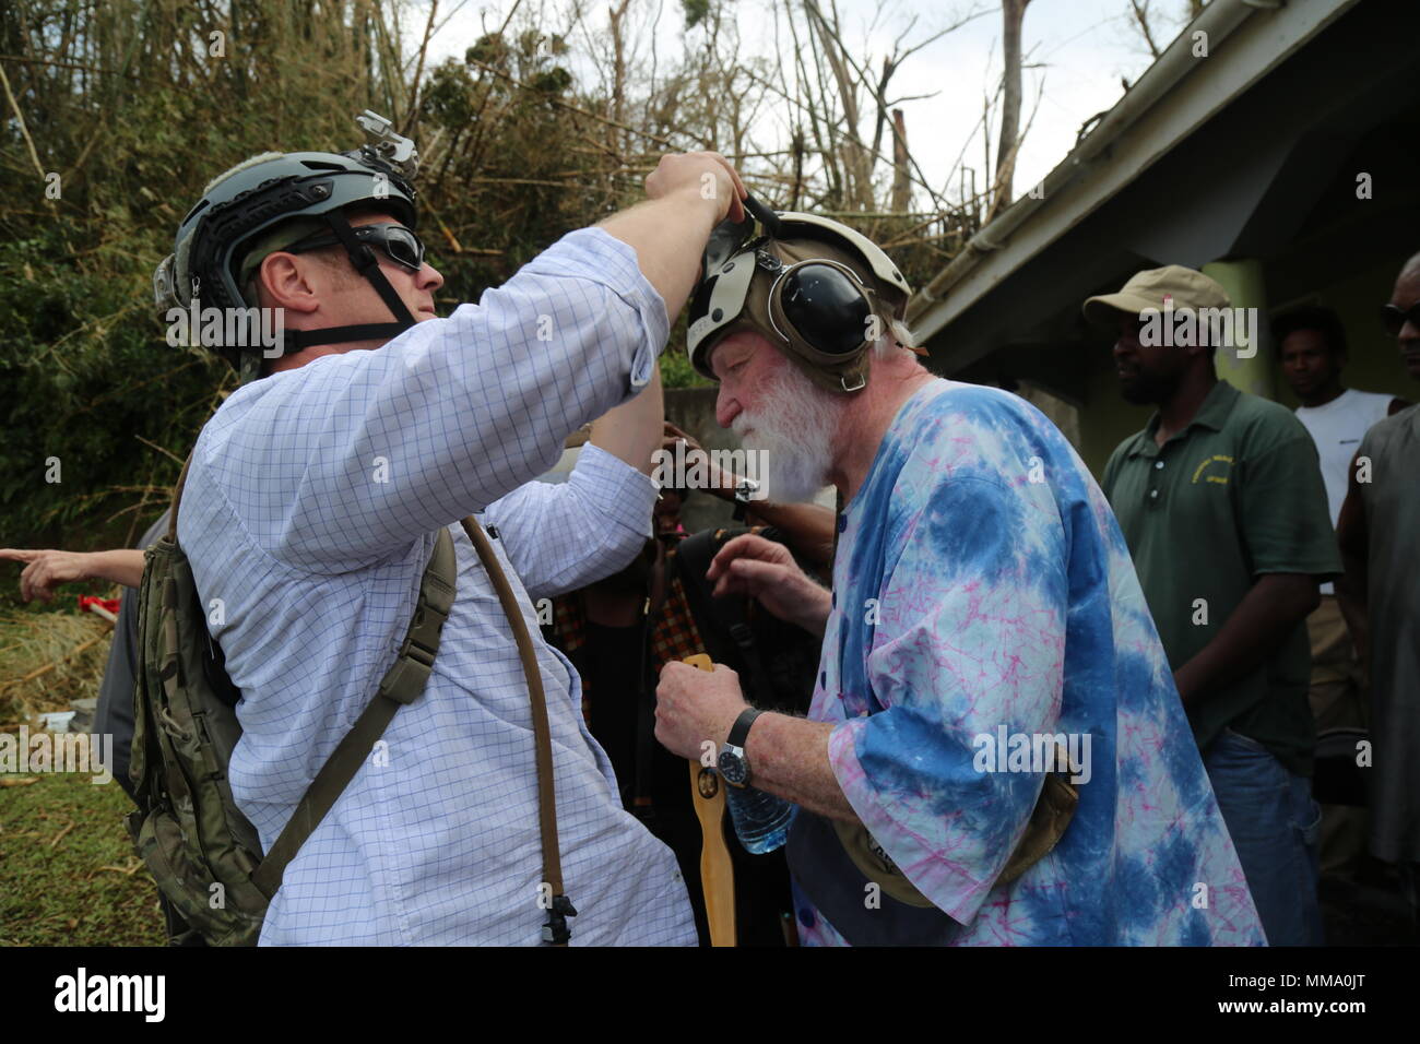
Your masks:
M 240 389 L 199 453 L 260 548 L 362 568 L 547 470 L 667 335 L 635 250 L 584 229 L 446 320 Z

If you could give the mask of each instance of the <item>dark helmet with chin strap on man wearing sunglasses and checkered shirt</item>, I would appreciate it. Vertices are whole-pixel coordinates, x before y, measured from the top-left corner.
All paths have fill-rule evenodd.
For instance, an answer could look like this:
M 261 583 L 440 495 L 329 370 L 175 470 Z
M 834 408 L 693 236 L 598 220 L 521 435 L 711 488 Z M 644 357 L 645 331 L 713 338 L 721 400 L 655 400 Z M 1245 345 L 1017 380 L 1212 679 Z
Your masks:
M 207 185 L 187 212 L 173 253 L 153 273 L 153 300 L 169 308 L 246 308 L 237 284 L 243 253 L 264 233 L 295 217 L 315 219 L 345 247 L 355 270 L 379 293 L 393 322 L 366 322 L 325 330 L 285 331 L 281 351 L 290 355 L 312 345 L 390 338 L 415 325 L 413 315 L 379 268 L 369 244 L 359 241 L 344 209 L 369 203 L 415 227 L 413 178 L 419 153 L 408 138 L 393 134 L 389 121 L 366 111 L 356 116 L 371 141 L 351 152 L 267 152 L 231 168 Z M 261 345 L 223 344 L 217 352 L 253 379 Z

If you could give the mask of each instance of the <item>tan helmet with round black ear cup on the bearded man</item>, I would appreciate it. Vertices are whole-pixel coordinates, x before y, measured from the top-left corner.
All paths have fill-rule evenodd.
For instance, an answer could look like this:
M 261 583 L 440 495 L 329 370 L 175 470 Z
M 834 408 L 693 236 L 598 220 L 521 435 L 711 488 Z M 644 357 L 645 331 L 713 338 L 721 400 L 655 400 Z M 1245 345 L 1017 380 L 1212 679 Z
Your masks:
M 690 301 L 690 364 L 716 379 L 713 348 L 730 334 L 754 330 L 815 384 L 861 391 L 879 337 L 906 338 L 907 281 L 882 249 L 846 224 L 774 213 L 753 199 L 746 206 L 753 220 L 726 222 L 706 247 Z

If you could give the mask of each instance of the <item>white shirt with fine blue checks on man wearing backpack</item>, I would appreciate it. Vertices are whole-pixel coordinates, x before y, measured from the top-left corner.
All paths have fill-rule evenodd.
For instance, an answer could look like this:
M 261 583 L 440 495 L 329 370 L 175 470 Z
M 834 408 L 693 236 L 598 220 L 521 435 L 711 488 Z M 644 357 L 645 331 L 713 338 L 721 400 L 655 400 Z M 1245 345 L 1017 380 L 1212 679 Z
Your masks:
M 542 642 L 510 562 L 551 594 L 645 535 L 649 482 L 596 452 L 571 493 L 518 487 L 645 385 L 667 334 L 635 251 L 575 232 L 477 305 L 241 388 L 203 429 L 179 537 L 243 692 L 231 790 L 264 847 L 393 662 L 440 527 L 459 558 L 423 696 L 287 866 L 263 945 L 541 939 L 527 685 L 456 523 L 486 507 L 547 690 L 572 945 L 694 943 L 676 859 L 622 811 L 577 673 Z

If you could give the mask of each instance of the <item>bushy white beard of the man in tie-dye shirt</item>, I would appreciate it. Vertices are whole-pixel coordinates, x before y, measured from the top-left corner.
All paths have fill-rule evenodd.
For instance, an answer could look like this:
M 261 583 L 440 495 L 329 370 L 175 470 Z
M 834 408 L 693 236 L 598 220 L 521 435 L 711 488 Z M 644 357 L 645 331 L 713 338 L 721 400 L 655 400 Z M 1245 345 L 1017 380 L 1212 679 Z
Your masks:
M 730 428 L 744 449 L 764 452 L 764 489 L 777 504 L 809 503 L 828 484 L 838 433 L 839 399 L 799 374 L 794 364 L 768 378 L 764 408 L 741 412 Z M 746 436 L 744 429 L 754 430 Z

